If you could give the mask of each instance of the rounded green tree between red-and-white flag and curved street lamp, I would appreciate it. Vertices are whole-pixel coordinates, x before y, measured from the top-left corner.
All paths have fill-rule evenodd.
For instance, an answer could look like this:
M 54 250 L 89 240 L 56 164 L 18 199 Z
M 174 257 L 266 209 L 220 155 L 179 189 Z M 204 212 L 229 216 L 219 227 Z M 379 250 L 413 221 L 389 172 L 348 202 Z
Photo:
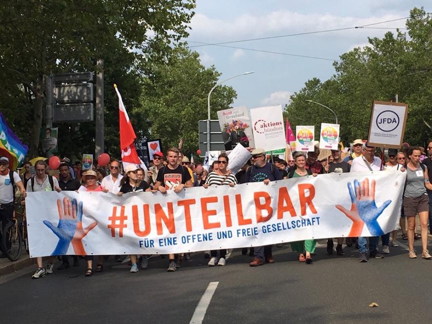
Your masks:
M 132 111 L 134 117 L 151 122 L 151 137 L 161 138 L 165 148 L 178 146 L 189 155 L 198 148 L 198 121 L 207 119 L 207 94 L 221 75 L 214 66 L 204 67 L 199 54 L 177 47 L 165 64 L 151 66 L 153 75 L 144 80 L 142 110 Z M 210 98 L 211 118 L 227 109 L 237 98 L 231 87 L 217 87 Z M 140 118 L 135 118 L 134 120 Z

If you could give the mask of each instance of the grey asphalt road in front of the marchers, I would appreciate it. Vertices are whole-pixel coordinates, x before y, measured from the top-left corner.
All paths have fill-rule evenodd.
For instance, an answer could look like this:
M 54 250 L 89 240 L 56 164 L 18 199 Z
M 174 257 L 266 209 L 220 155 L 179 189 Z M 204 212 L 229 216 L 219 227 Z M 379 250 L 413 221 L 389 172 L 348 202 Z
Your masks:
M 38 280 L 27 268 L 0 277 L 0 323 L 187 324 L 211 282 L 219 284 L 204 324 L 432 322 L 432 261 L 410 260 L 395 247 L 385 259 L 359 263 L 355 248 L 328 256 L 320 243 L 310 265 L 299 263 L 286 244 L 274 248 L 276 263 L 255 268 L 237 250 L 226 266 L 211 268 L 195 253 L 174 273 L 159 257 L 134 274 L 110 258 L 102 273 L 88 278 L 83 260 Z M 372 302 L 379 307 L 370 308 Z

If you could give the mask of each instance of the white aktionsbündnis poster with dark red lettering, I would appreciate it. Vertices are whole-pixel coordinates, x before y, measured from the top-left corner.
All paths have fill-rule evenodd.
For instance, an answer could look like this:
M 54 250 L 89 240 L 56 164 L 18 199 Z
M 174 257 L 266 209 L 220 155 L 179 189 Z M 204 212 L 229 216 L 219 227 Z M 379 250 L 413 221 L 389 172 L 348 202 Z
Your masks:
M 266 151 L 285 148 L 285 127 L 282 106 L 269 106 L 250 109 L 255 147 Z

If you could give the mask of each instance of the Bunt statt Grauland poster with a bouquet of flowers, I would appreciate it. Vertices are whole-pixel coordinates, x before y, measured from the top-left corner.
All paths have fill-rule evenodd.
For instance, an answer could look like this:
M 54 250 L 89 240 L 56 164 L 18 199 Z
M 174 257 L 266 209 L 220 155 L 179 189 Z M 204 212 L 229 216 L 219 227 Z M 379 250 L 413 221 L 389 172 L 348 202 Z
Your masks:
M 238 143 L 244 147 L 255 147 L 246 106 L 219 110 L 218 120 L 226 151 L 232 150 Z

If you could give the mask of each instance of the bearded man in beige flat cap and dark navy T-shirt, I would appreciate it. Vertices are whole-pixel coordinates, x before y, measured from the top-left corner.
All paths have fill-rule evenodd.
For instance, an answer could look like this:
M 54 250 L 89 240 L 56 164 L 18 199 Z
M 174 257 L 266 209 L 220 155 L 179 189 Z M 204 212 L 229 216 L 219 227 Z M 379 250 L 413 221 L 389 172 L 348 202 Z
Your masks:
M 252 152 L 252 166 L 247 169 L 247 182 L 264 182 L 282 180 L 282 176 L 278 168 L 271 163 L 266 162 L 266 151 L 262 148 L 256 148 Z M 266 263 L 274 263 L 273 255 L 271 254 L 271 245 L 255 246 L 254 258 L 249 263 L 250 266 L 263 265 Z

